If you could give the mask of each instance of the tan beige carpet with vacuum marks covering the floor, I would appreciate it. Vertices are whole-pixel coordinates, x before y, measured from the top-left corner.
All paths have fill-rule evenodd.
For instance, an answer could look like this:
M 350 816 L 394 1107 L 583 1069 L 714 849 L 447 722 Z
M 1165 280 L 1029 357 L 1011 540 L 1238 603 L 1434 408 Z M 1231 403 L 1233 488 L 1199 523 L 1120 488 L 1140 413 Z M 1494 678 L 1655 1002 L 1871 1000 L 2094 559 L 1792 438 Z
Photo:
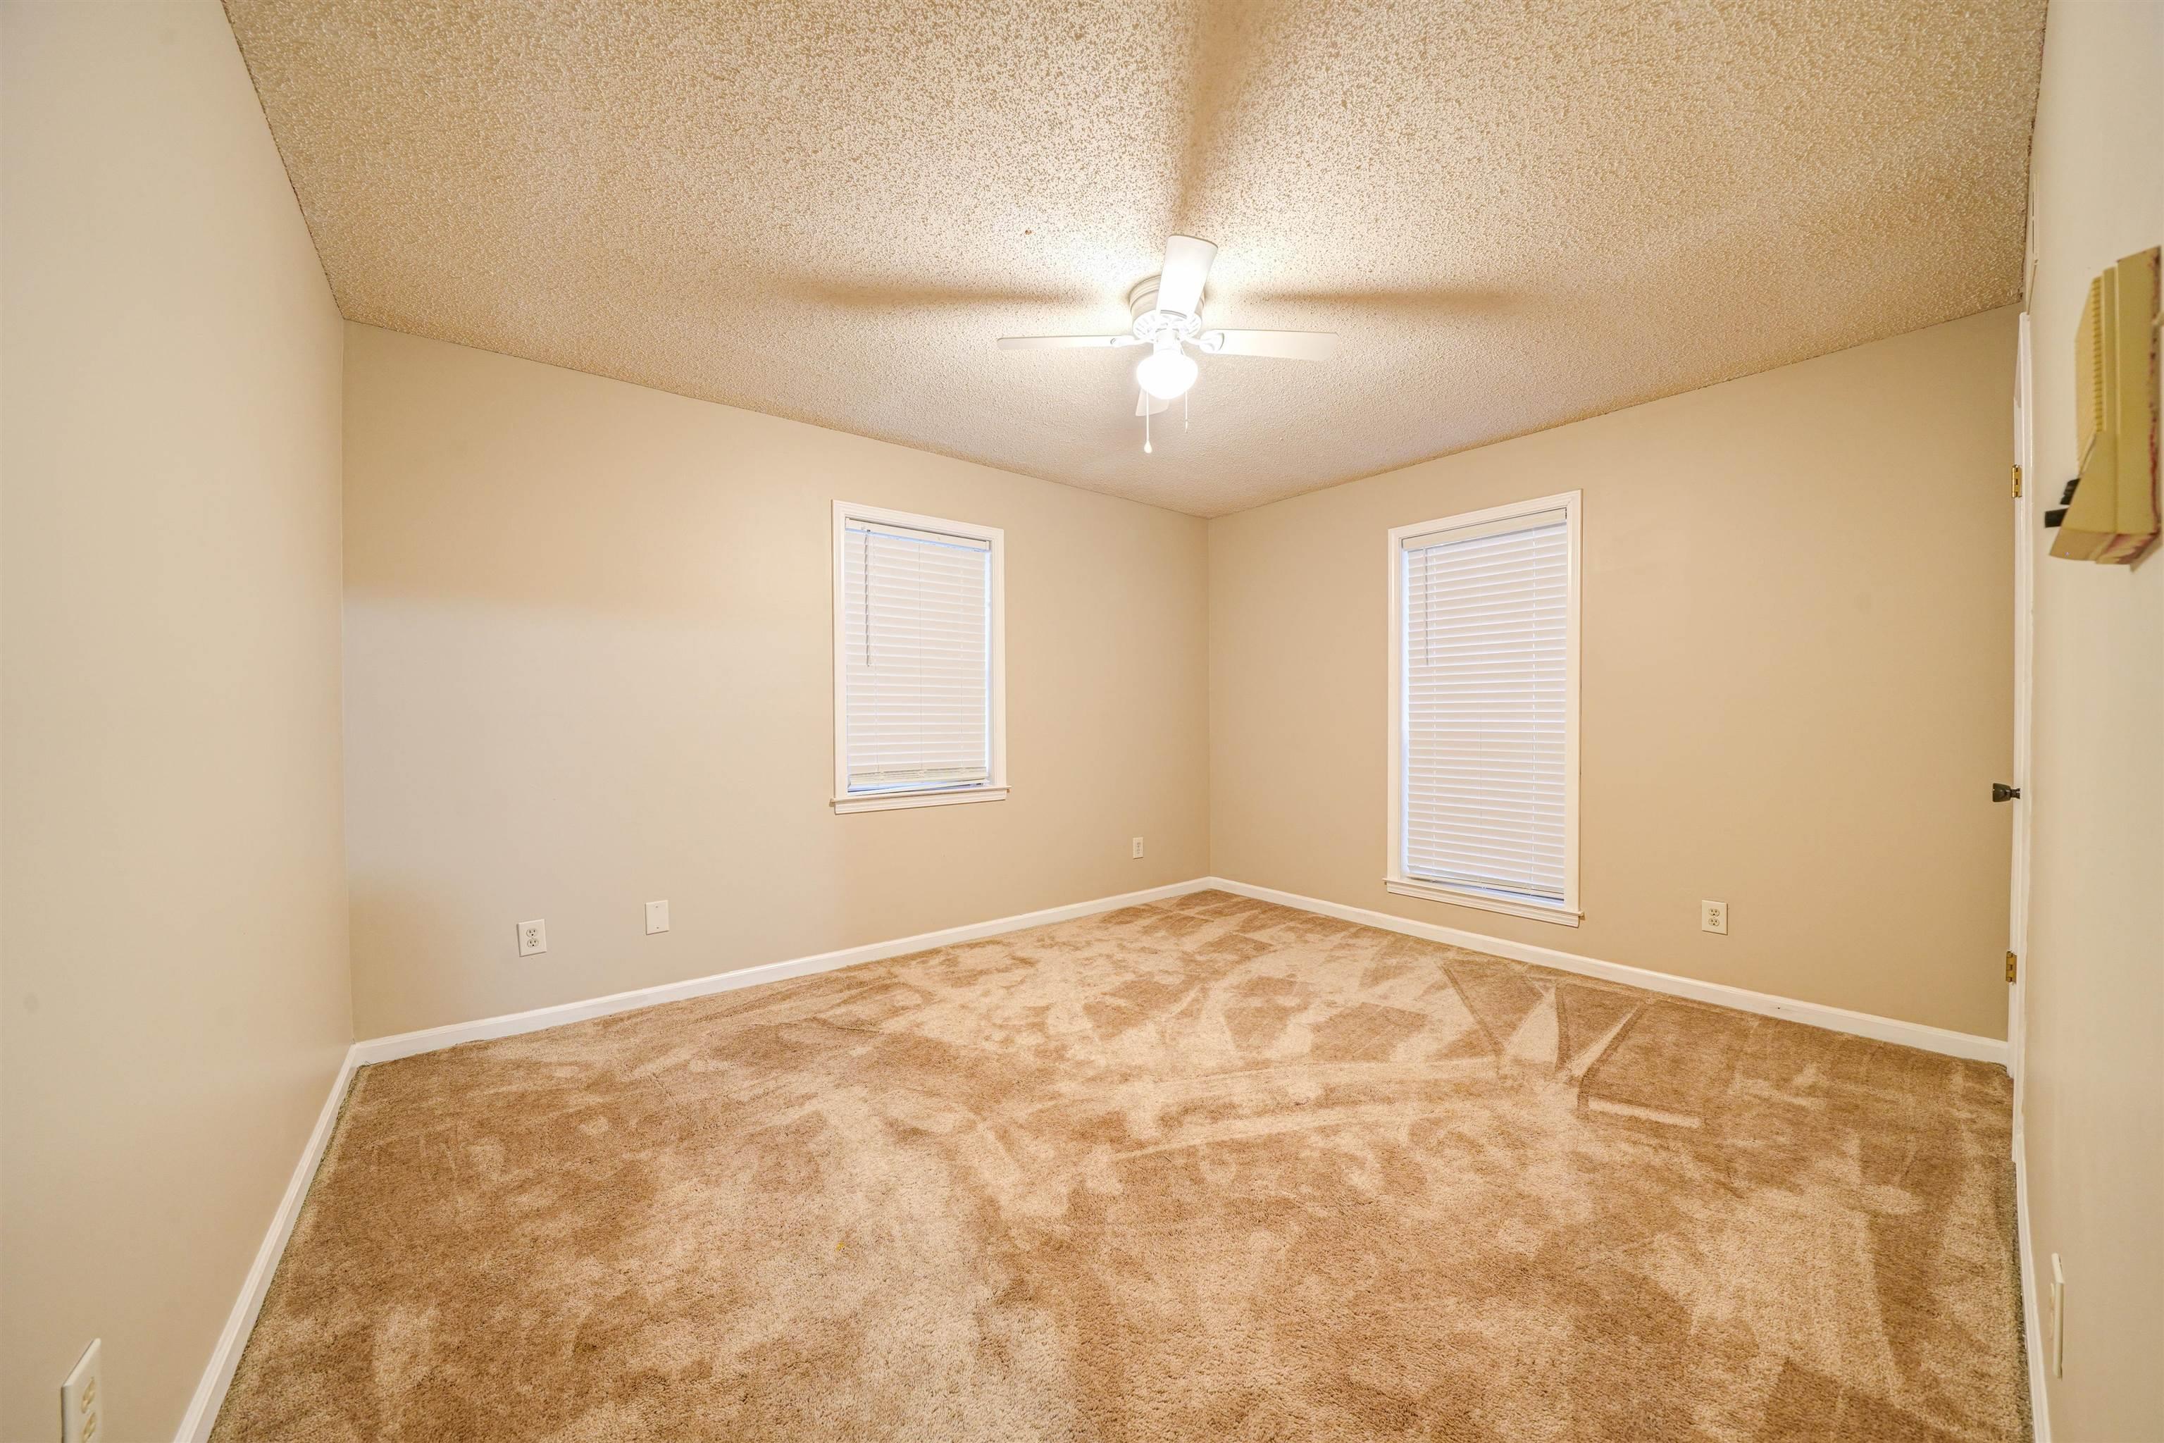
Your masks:
M 366 1069 L 216 1439 L 2019 1439 L 2000 1069 L 1203 891 Z

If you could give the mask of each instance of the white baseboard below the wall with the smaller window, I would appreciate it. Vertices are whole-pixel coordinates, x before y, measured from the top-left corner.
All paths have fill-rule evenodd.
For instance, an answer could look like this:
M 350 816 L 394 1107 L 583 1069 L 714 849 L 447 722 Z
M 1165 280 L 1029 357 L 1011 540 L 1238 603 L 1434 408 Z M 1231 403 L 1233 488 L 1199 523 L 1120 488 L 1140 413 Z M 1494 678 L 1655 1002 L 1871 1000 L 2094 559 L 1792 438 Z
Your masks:
M 353 1051 L 359 1056 L 364 1067 L 368 1062 L 390 1062 L 394 1058 L 411 1058 L 422 1051 L 457 1047 L 459 1043 L 480 1043 L 491 1036 L 541 1032 L 543 1028 L 560 1028 L 571 1021 L 586 1021 L 589 1017 L 608 1017 L 610 1012 L 632 1012 L 662 1002 L 682 1002 L 686 997 L 736 991 L 738 987 L 757 987 L 760 982 L 803 978 L 814 971 L 833 971 L 837 967 L 855 967 L 857 963 L 876 963 L 887 956 L 928 952 L 931 948 L 952 948 L 959 941 L 976 941 L 980 937 L 998 937 L 1000 932 L 1019 932 L 1030 926 L 1071 922 L 1073 917 L 1119 911 L 1121 906 L 1136 906 L 1140 902 L 1162 902 L 1164 898 L 1186 896 L 1210 885 L 1212 883 L 1205 878 L 1169 883 L 1145 891 L 1125 891 L 1117 898 L 1045 906 L 1034 913 L 1017 913 L 1013 917 L 995 917 L 991 922 L 972 922 L 967 926 L 950 926 L 939 932 L 896 937 L 894 941 L 868 941 L 861 948 L 842 948 L 840 952 L 818 952 L 814 956 L 792 956 L 781 963 L 716 971 L 686 982 L 662 982 L 660 987 L 641 987 L 628 993 L 610 993 L 608 997 L 589 997 L 586 1002 L 563 1002 L 550 1008 L 535 1008 L 530 1012 L 509 1012 L 504 1017 L 483 1017 L 478 1021 L 454 1021 L 444 1028 L 424 1028 L 422 1032 L 398 1032 L 355 1043 Z

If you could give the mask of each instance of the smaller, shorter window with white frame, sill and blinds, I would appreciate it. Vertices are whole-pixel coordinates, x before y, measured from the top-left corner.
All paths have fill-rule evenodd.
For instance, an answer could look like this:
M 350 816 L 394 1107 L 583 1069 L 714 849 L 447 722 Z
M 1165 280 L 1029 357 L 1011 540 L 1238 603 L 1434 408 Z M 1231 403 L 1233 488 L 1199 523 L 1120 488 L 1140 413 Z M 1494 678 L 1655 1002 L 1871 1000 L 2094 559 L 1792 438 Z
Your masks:
M 1006 796 L 1002 541 L 835 502 L 835 811 Z

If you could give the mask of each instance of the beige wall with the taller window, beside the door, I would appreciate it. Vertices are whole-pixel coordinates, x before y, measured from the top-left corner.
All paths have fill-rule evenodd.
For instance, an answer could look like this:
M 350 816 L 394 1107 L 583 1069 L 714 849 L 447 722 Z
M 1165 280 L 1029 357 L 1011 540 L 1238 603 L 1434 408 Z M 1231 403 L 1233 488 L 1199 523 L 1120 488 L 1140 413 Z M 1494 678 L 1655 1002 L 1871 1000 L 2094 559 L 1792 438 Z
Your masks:
M 1216 872 L 2004 1036 L 2013 342 L 1974 316 L 1212 521 Z M 1569 489 L 1584 926 L 1389 896 L 1385 532 Z

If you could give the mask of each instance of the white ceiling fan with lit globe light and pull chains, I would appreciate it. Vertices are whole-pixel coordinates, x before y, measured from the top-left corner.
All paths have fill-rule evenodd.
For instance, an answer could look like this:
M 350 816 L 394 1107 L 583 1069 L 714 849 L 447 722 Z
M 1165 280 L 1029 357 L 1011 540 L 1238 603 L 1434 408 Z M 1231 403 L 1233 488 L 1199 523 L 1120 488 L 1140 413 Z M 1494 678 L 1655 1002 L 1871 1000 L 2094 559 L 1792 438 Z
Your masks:
M 1164 270 L 1127 292 L 1134 327 L 1121 335 L 1002 335 L 1000 350 L 1067 350 L 1086 346 L 1149 346 L 1134 368 L 1143 387 L 1134 413 L 1143 418 L 1143 450 L 1149 450 L 1149 418 L 1188 394 L 1199 366 L 1188 346 L 1203 355 L 1272 355 L 1288 361 L 1327 361 L 1337 350 L 1335 331 L 1218 331 L 1203 329 L 1203 281 L 1216 247 L 1195 236 L 1164 242 Z

